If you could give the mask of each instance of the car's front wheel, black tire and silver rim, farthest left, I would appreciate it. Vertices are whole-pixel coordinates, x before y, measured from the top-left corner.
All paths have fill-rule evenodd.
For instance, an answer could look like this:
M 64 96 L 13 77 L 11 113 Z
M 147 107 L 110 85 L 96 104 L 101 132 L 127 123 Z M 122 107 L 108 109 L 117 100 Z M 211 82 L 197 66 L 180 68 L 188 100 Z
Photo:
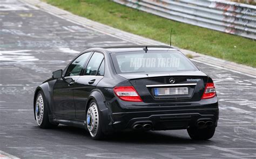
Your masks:
M 43 100 L 43 107 L 41 107 L 43 115 L 41 115 L 41 117 L 42 117 L 41 120 L 42 121 L 40 121 L 40 122 L 37 118 L 38 113 L 36 112 L 36 106 L 37 106 L 38 100 Z M 38 91 L 38 93 L 37 93 L 34 113 L 36 115 L 36 124 L 37 124 L 38 127 L 46 129 L 46 128 L 56 128 L 58 126 L 58 124 L 51 124 L 51 122 L 49 121 L 48 106 L 47 106 L 46 99 L 45 99 L 43 91 Z M 41 112 L 39 111 L 39 113 L 41 113 Z

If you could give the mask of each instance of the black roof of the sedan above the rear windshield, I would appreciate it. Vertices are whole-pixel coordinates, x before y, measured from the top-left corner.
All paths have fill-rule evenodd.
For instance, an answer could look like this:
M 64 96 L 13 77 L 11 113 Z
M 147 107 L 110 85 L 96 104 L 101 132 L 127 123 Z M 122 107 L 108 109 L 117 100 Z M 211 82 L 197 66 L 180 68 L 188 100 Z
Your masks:
M 135 51 L 143 51 L 143 48 L 147 47 L 148 50 L 178 50 L 172 46 L 164 46 L 164 45 L 126 45 L 126 46 L 109 46 L 102 48 L 91 48 L 98 50 L 107 50 L 109 53 L 119 53 L 119 52 L 135 52 Z

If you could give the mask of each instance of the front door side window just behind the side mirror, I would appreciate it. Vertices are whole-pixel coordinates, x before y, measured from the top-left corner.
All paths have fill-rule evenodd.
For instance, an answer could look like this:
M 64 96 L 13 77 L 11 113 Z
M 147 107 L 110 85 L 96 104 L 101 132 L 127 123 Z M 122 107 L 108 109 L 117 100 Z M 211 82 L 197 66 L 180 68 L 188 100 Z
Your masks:
M 90 54 L 91 52 L 88 52 L 77 57 L 66 70 L 66 76 L 79 76 Z

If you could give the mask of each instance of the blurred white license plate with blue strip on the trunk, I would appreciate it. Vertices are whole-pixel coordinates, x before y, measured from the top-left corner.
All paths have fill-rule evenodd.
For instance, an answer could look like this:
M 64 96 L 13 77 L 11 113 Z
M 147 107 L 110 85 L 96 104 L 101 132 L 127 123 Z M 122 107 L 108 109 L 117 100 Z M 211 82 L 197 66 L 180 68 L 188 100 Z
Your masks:
M 177 88 L 154 88 L 155 96 L 166 96 L 166 95 L 188 95 L 187 87 Z

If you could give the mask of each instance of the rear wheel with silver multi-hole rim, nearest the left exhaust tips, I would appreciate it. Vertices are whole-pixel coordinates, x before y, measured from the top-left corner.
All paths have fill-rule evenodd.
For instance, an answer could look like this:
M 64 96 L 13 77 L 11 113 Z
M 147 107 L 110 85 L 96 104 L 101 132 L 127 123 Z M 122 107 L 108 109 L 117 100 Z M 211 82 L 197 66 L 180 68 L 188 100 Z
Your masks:
M 99 107 L 97 102 L 95 100 L 91 100 L 89 108 L 86 112 L 86 127 L 93 140 L 101 140 L 104 137 L 104 134 L 102 132 L 102 118 L 100 117 L 100 113 L 98 110 Z M 92 122 L 88 122 L 88 115 L 90 115 L 90 119 L 93 119 L 93 123 L 95 125 L 92 126 Z

